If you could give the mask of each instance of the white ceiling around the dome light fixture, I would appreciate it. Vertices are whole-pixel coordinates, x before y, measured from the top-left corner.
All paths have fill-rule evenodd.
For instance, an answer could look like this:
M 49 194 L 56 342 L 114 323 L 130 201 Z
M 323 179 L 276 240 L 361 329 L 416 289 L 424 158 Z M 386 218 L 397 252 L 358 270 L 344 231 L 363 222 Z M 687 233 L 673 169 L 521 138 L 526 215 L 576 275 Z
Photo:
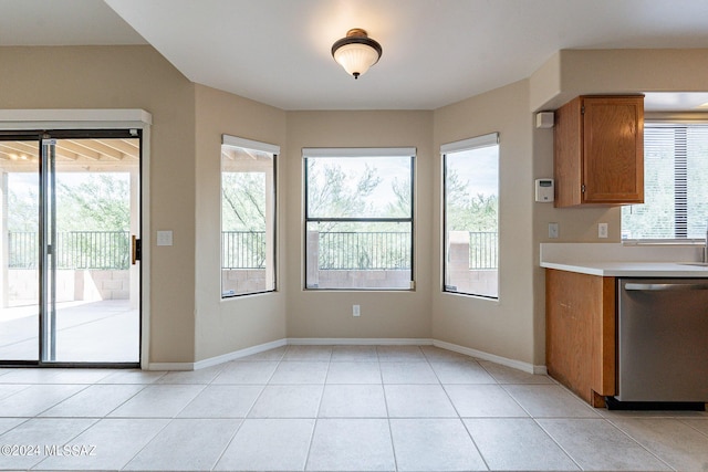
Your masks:
M 434 109 L 562 49 L 708 48 L 707 19 L 706 0 L 0 0 L 0 45 L 149 43 L 189 80 L 282 109 Z M 351 28 L 384 49 L 358 81 L 330 53 Z

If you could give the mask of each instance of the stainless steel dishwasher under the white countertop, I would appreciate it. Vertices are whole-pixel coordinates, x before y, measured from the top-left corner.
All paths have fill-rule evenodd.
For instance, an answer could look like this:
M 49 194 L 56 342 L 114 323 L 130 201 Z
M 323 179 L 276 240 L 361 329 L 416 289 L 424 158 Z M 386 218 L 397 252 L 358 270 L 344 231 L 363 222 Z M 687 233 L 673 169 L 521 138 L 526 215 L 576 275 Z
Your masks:
M 708 402 L 708 279 L 618 280 L 620 401 Z

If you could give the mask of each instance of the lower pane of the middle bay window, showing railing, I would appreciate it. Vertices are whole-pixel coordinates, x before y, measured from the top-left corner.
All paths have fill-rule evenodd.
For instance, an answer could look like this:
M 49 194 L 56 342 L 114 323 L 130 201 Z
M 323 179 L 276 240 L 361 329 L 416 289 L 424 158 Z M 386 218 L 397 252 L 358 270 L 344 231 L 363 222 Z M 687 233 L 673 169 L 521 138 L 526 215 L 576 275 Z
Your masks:
M 410 289 L 410 222 L 306 227 L 308 289 Z

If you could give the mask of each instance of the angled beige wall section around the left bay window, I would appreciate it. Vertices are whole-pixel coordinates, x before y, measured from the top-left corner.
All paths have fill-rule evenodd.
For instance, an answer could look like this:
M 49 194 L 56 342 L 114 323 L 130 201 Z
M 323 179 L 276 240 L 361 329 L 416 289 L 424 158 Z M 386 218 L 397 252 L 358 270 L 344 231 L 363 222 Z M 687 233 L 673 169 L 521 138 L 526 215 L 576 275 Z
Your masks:
M 285 113 L 250 99 L 196 85 L 197 212 L 196 212 L 196 360 L 229 354 L 285 337 L 283 268 L 278 265 L 275 293 L 221 301 L 221 135 L 281 146 L 278 166 L 285 167 Z M 278 208 L 288 187 L 287 172 L 278 179 Z M 279 252 L 287 232 L 279 211 Z M 284 260 L 283 256 L 280 260 Z

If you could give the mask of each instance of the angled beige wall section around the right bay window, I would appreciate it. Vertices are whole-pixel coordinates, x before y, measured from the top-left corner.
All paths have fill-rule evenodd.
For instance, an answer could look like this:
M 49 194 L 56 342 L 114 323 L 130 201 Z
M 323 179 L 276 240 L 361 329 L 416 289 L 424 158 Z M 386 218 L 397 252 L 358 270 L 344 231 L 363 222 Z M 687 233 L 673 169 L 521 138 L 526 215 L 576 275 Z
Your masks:
M 533 363 L 531 114 L 528 81 L 435 111 L 433 337 Z M 440 145 L 499 132 L 499 301 L 441 293 Z

